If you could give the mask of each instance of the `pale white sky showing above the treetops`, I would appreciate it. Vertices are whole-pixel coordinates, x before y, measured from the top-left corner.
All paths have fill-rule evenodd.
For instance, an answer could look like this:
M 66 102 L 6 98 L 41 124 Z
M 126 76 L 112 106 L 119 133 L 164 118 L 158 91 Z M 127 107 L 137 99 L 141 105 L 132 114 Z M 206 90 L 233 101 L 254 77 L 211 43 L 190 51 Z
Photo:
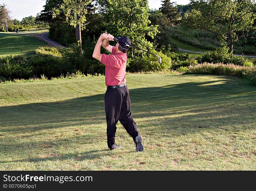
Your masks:
M 189 0 L 173 0 L 177 4 L 186 5 Z M 171 0 L 171 2 L 173 2 Z M 6 4 L 11 11 L 12 19 L 17 19 L 21 21 L 24 17 L 32 15 L 36 16 L 43 10 L 45 5 L 45 0 L 0 0 L 0 4 Z M 148 5 L 150 9 L 158 9 L 161 7 L 161 0 L 148 0 Z

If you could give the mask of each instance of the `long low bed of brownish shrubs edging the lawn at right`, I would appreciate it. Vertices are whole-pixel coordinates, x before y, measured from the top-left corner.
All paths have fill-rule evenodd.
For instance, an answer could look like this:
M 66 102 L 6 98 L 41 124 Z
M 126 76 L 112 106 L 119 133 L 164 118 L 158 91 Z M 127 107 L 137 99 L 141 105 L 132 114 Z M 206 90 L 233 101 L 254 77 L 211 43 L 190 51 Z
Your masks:
M 203 63 L 190 66 L 184 74 L 215 74 L 225 76 L 235 76 L 248 80 L 252 85 L 256 85 L 256 67 L 239 66 L 223 63 Z

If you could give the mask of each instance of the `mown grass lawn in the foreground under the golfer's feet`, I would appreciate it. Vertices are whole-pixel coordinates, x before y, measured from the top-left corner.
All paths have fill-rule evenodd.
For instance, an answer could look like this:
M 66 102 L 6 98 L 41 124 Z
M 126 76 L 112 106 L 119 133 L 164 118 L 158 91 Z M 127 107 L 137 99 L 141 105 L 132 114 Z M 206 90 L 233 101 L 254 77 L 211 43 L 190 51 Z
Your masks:
M 0 170 L 256 170 L 256 87 L 214 75 L 127 84 L 143 152 L 119 122 L 122 148 L 107 148 L 104 76 L 0 84 Z

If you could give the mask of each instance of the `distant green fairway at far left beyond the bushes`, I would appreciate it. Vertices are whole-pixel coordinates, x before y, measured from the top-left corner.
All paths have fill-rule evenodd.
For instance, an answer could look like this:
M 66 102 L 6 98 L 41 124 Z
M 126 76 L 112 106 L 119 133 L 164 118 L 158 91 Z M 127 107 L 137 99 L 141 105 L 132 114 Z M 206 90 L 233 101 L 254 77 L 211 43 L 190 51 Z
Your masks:
M 40 33 L 48 32 L 48 30 L 35 30 L 28 32 L 0 32 L 0 57 L 9 55 L 26 54 L 29 51 L 35 50 L 40 46 L 46 46 L 44 42 L 35 37 Z

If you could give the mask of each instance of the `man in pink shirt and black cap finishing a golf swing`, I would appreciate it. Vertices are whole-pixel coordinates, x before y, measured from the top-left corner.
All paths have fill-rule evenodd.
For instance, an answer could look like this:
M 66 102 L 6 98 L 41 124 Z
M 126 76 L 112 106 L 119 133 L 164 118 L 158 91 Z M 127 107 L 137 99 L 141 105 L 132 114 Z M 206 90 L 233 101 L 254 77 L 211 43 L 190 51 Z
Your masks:
M 134 119 L 131 117 L 130 95 L 125 79 L 126 52 L 129 49 L 129 45 L 118 41 L 115 47 L 113 47 L 109 45 L 109 41 L 113 41 L 113 38 L 113 35 L 107 33 L 100 35 L 93 52 L 93 58 L 96 58 L 106 66 L 105 83 L 107 90 L 105 93 L 105 112 L 108 147 L 110 150 L 121 148 L 120 145 L 115 144 L 116 124 L 119 120 L 133 138 L 136 144 L 136 151 L 143 151 L 140 133 Z M 131 44 L 127 37 L 118 37 L 117 40 Z M 111 52 L 111 55 L 101 54 L 101 45 Z

